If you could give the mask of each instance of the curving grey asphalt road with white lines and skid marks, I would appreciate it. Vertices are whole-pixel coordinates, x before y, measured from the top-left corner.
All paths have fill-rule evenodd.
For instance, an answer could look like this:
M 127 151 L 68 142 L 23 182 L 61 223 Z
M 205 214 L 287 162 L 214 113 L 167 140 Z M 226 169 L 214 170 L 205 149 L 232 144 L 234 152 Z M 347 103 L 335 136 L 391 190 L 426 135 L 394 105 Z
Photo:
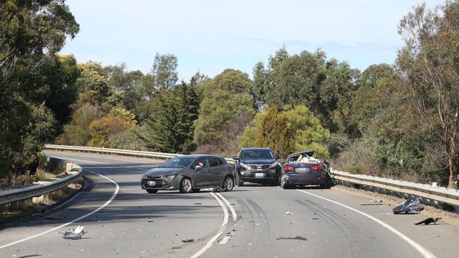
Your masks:
M 341 188 L 244 185 L 192 194 L 141 190 L 147 159 L 48 152 L 84 168 L 76 197 L 0 230 L 0 257 L 459 257 L 458 228 Z M 289 214 L 289 215 L 287 215 Z M 81 225 L 81 240 L 59 232 Z M 191 240 L 191 242 L 183 242 Z

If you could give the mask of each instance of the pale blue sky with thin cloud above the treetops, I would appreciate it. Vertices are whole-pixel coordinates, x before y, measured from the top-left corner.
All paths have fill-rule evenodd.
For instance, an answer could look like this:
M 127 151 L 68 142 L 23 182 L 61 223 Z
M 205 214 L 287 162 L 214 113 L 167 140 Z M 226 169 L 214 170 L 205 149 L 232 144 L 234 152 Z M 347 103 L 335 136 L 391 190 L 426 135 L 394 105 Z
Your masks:
M 427 1 L 430 8 L 444 1 Z M 225 68 L 249 73 L 285 44 L 290 54 L 326 51 L 364 70 L 393 63 L 401 18 L 417 0 L 146 1 L 67 0 L 80 33 L 61 51 L 79 62 L 126 63 L 150 71 L 155 53 L 174 54 L 179 78 Z M 252 76 L 251 76 L 252 77 Z

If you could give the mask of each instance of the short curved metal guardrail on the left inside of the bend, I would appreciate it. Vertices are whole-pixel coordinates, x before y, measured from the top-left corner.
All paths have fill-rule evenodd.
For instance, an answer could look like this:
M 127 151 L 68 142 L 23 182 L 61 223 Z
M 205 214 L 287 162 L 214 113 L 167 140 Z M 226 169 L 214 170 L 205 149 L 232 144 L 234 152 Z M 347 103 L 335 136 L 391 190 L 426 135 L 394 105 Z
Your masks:
M 31 185 L 25 188 L 1 191 L 0 205 L 31 199 L 64 188 L 80 178 L 82 170 L 80 166 L 72 164 L 70 171 L 68 171 L 68 176 L 65 178 L 41 182 L 40 184 Z

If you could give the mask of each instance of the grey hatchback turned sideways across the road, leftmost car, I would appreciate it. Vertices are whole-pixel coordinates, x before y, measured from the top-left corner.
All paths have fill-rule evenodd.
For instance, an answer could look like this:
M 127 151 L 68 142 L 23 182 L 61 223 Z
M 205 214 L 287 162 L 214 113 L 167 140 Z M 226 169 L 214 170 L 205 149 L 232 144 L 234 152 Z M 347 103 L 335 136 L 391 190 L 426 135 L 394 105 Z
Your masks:
M 150 169 L 141 179 L 141 188 L 149 193 L 158 190 L 189 193 L 216 187 L 224 191 L 234 187 L 234 168 L 217 155 L 177 156 Z

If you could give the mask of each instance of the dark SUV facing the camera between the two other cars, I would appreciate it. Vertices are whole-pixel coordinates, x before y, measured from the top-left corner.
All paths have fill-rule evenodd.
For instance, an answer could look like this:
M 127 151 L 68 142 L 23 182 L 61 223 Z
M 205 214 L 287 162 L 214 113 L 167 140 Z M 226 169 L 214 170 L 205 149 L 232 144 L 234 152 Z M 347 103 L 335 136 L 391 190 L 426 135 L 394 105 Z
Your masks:
M 237 161 L 237 186 L 244 182 L 279 185 L 282 166 L 276 160 L 280 156 L 274 156 L 271 149 L 244 148 L 233 159 Z

